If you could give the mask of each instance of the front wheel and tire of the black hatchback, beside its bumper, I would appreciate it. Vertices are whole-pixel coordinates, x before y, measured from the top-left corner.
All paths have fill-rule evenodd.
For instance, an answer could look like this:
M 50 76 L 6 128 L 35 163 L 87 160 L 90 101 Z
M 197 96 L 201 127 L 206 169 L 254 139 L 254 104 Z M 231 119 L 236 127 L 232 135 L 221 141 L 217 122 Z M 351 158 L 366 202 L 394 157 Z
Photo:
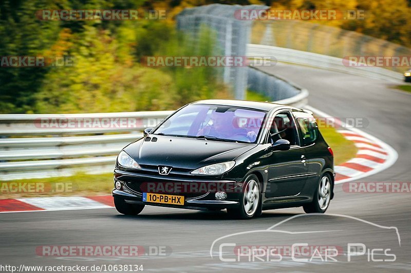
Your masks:
M 251 219 L 261 215 L 260 183 L 257 176 L 250 175 L 246 179 L 238 208 L 227 209 L 227 212 L 235 219 Z

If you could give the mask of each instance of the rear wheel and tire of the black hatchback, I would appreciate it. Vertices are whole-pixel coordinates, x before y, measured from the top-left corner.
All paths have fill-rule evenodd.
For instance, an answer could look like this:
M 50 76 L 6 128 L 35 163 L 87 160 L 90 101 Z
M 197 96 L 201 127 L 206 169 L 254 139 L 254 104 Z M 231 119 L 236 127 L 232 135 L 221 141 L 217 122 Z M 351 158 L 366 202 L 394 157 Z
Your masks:
M 330 204 L 332 182 L 329 174 L 324 174 L 318 183 L 311 203 L 303 206 L 306 213 L 325 213 Z

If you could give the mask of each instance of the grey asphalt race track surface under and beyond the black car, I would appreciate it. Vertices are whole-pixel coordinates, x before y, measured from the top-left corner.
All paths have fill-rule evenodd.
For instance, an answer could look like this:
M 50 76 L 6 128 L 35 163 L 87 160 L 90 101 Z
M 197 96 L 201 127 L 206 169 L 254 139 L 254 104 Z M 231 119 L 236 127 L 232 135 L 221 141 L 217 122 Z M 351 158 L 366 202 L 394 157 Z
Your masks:
M 410 181 L 410 94 L 391 89 L 389 85 L 392 83 L 389 82 L 309 67 L 277 64 L 266 68 L 266 71 L 307 88 L 309 104 L 314 108 L 335 117 L 366 118 L 369 125 L 362 130 L 385 141 L 398 152 L 398 160 L 393 166 L 361 181 Z M 0 214 L 0 264 L 17 267 L 21 264 L 138 264 L 143 265 L 144 271 L 179 272 L 411 270 L 410 208 L 409 194 L 345 193 L 340 184 L 335 188 L 335 198 L 327 213 L 321 216 L 305 215 L 302 208 L 289 208 L 266 211 L 260 218 L 240 221 L 229 219 L 224 211 L 197 212 L 149 206 L 136 217 L 120 215 L 114 208 Z M 296 215 L 301 216 L 275 227 L 289 233 L 264 231 Z M 401 241 L 394 228 L 382 226 L 397 227 Z M 251 230 L 263 231 L 218 240 L 211 249 L 213 258 L 210 256 L 214 240 Z M 293 261 L 283 255 L 281 261 L 263 258 L 263 261 L 255 259 L 254 262 L 223 262 L 219 259 L 222 242 L 236 243 L 237 246 L 308 243 L 342 247 L 343 254 L 335 257 L 337 261 Z M 390 248 L 388 253 L 395 254 L 396 260 L 369 262 L 366 253 L 351 257 L 348 262 L 348 243 L 363 243 L 369 249 Z M 44 257 L 35 253 L 36 247 L 42 245 L 167 246 L 168 252 L 165 256 L 144 254 L 141 257 Z M 223 258 L 235 257 L 230 247 L 223 247 L 221 253 Z M 375 252 L 372 258 L 393 258 L 379 255 L 381 253 Z

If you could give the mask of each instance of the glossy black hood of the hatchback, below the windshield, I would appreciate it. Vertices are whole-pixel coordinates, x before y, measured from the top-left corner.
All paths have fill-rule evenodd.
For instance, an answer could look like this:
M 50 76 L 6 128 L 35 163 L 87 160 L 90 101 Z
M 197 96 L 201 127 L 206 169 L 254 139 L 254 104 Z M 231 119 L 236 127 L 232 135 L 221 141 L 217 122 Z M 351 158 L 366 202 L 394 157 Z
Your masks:
M 223 142 L 185 137 L 148 135 L 129 144 L 124 151 L 142 165 L 166 165 L 184 169 L 230 161 L 254 148 L 253 143 Z M 153 137 L 157 141 L 152 141 Z

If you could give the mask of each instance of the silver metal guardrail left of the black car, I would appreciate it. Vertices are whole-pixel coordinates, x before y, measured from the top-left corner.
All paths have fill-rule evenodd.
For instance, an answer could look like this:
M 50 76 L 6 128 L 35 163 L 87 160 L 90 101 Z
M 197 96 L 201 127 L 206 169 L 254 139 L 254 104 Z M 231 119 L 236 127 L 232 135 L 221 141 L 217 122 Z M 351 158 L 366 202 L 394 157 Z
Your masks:
M 111 172 L 125 145 L 173 112 L 0 115 L 0 180 Z

